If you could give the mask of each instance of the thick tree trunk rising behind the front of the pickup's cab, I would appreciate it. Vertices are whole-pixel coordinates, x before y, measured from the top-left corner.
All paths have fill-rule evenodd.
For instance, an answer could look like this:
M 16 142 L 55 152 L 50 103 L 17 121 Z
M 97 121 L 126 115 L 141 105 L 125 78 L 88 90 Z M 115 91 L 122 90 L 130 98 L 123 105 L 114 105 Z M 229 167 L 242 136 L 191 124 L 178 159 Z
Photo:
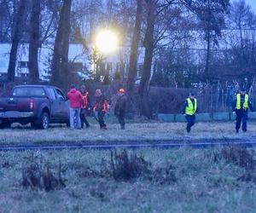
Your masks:
M 67 71 L 67 68 L 68 68 L 67 62 L 68 62 L 68 47 L 69 47 L 69 34 L 70 34 L 71 4 L 72 4 L 72 0 L 64 0 L 61 8 L 59 26 L 58 26 L 56 37 L 55 37 L 54 55 L 52 59 L 52 68 L 51 68 L 51 72 L 52 72 L 51 81 L 53 83 L 61 83 L 63 80 L 61 79 L 61 69 L 64 68 L 65 71 Z

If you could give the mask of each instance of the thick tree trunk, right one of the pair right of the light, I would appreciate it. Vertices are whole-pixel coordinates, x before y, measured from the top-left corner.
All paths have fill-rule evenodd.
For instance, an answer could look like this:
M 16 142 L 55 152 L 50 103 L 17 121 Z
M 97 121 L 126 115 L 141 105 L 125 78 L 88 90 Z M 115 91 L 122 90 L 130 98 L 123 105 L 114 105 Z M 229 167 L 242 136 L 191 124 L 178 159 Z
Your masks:
M 154 52 L 154 22 L 156 18 L 155 1 L 147 2 L 147 29 L 144 38 L 145 56 L 143 62 L 143 75 L 139 87 L 139 95 L 142 98 L 141 112 L 144 116 L 151 118 L 151 112 L 148 104 L 148 84 L 151 75 L 151 66 Z

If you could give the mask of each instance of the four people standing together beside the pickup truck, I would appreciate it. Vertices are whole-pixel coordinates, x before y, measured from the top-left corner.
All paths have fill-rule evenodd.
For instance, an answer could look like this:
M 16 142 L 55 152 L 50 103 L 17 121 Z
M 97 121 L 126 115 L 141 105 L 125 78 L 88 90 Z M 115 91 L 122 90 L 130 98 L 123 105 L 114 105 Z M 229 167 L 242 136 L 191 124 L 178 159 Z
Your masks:
M 114 114 L 119 119 L 121 130 L 125 130 L 125 110 L 127 101 L 125 89 L 119 89 L 118 95 L 119 98 L 114 107 Z M 100 128 L 107 130 L 104 117 L 109 109 L 109 101 L 105 95 L 102 94 L 101 89 L 96 89 L 94 96 L 96 101 L 95 104 L 91 106 L 90 94 L 86 87 L 82 85 L 78 90 L 75 88 L 75 85 L 71 85 L 71 89 L 67 93 L 67 99 L 69 100 L 69 122 L 72 130 L 84 128 L 84 124 L 86 128 L 90 128 L 86 117 L 91 108 Z

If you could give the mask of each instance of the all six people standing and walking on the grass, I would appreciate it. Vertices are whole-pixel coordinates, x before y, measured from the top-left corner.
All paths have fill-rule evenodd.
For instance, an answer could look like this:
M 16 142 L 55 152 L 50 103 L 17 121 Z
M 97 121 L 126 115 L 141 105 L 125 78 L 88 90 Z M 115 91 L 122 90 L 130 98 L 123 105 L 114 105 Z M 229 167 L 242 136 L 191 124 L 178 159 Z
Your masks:
M 120 129 L 125 130 L 125 110 L 127 97 L 125 95 L 125 89 L 118 90 L 118 100 L 114 107 L 114 114 L 119 119 Z M 90 127 L 88 120 L 86 119 L 87 113 L 90 111 L 90 99 L 89 92 L 84 85 L 80 87 L 80 90 L 75 89 L 72 85 L 70 91 L 67 93 L 67 98 L 70 101 L 70 128 L 86 128 Z M 104 121 L 104 116 L 109 109 L 109 101 L 102 94 L 101 89 L 95 91 L 95 104 L 92 107 L 94 116 L 97 122 L 100 124 L 102 130 L 107 130 L 107 124 Z M 243 132 L 247 131 L 247 118 L 248 109 L 253 112 L 252 104 L 249 100 L 249 95 L 246 93 L 246 89 L 240 89 L 236 95 L 236 100 L 233 102 L 233 114 L 236 115 L 236 133 L 240 128 Z M 183 114 L 187 120 L 186 130 L 189 133 L 192 126 L 195 124 L 195 116 L 198 113 L 198 102 L 194 93 L 190 93 L 183 105 Z M 75 122 L 76 119 L 76 122 Z M 76 124 L 76 125 L 75 125 Z

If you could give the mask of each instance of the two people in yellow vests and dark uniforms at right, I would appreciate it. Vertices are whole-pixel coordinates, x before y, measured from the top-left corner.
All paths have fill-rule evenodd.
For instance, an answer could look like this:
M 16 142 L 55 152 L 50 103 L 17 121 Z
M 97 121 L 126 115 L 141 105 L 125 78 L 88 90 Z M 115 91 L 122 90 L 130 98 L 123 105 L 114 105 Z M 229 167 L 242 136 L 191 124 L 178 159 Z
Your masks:
M 236 99 L 232 105 L 233 114 L 236 115 L 236 133 L 239 130 L 247 132 L 247 118 L 248 109 L 253 112 L 252 103 L 246 89 L 240 89 L 236 94 Z M 187 132 L 189 133 L 191 127 L 195 124 L 195 115 L 198 113 L 198 103 L 194 93 L 189 94 L 189 98 L 184 102 L 183 114 L 187 120 Z

